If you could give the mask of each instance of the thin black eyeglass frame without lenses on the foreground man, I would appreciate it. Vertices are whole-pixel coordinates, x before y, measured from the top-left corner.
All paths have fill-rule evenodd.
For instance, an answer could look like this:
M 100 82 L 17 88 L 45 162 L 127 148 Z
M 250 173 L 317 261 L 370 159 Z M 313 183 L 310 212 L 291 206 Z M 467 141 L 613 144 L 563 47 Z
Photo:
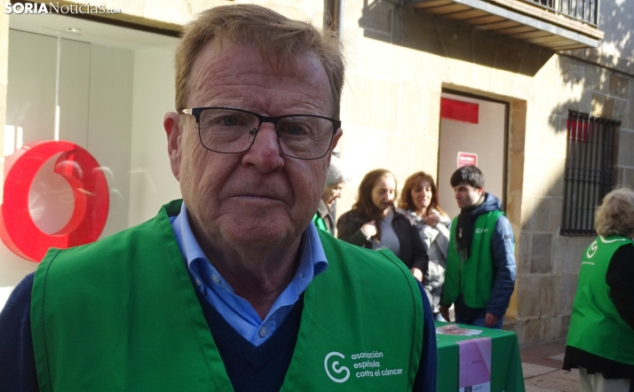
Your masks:
M 201 114 L 202 114 L 203 111 L 205 111 L 207 109 L 234 110 L 236 112 L 242 112 L 242 113 L 246 113 L 246 114 L 253 114 L 254 116 L 258 117 L 258 121 L 259 121 L 258 129 L 255 129 L 256 134 L 253 137 L 253 140 L 251 140 L 251 144 L 246 149 L 244 149 L 242 151 L 236 151 L 234 153 L 244 153 L 246 151 L 249 151 L 251 146 L 253 145 L 253 143 L 256 141 L 256 137 L 258 136 L 258 131 L 259 131 L 260 127 L 262 126 L 262 124 L 265 123 L 265 122 L 269 122 L 269 123 L 272 123 L 273 126 L 275 126 L 275 133 L 277 134 L 277 145 L 280 147 L 281 153 L 283 153 L 284 155 L 286 155 L 286 156 L 288 156 L 290 158 L 295 158 L 297 160 L 302 160 L 302 161 L 318 160 L 320 158 L 325 157 L 326 154 L 329 152 L 330 146 L 332 145 L 332 139 L 335 137 L 335 133 L 337 133 L 337 129 L 341 128 L 341 120 L 335 120 L 335 119 L 331 119 L 329 117 L 324 117 L 322 115 L 315 115 L 315 114 L 284 114 L 284 115 L 278 115 L 278 116 L 274 116 L 274 117 L 269 117 L 269 116 L 266 116 L 266 115 L 253 113 L 253 112 L 250 112 L 248 110 L 236 109 L 235 107 L 227 107 L 227 106 L 206 106 L 206 107 L 192 107 L 190 109 L 183 109 L 182 112 L 181 112 L 182 114 L 191 114 L 196 119 L 196 123 L 198 124 L 198 138 L 201 141 L 201 145 L 203 147 L 205 147 L 207 150 L 213 151 L 214 153 L 224 153 L 224 152 L 212 150 L 208 146 L 204 145 L 204 143 L 202 143 Z M 284 149 L 281 148 L 281 143 L 280 143 L 280 137 L 281 136 L 280 136 L 280 132 L 277 131 L 277 122 L 279 122 L 281 119 L 284 119 L 284 118 L 287 118 L 287 117 L 297 117 L 297 116 L 320 118 L 320 119 L 328 120 L 329 122 L 332 122 L 332 135 L 330 135 L 330 141 L 329 141 L 329 144 L 328 144 L 328 149 L 326 149 L 326 152 L 324 152 L 321 156 L 318 156 L 318 157 L 315 157 L 315 158 L 299 158 L 299 157 L 296 157 L 296 156 L 293 156 L 293 155 L 290 155 L 290 154 L 286 153 L 284 151 Z

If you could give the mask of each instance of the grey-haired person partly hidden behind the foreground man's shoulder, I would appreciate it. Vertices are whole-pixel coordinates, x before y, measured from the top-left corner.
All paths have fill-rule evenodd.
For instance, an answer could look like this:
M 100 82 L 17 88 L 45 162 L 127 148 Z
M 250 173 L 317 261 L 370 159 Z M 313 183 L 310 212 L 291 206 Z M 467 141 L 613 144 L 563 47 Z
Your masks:
M 332 215 L 332 206 L 341 197 L 341 190 L 345 183 L 350 181 L 350 176 L 345 165 L 335 155 L 330 158 L 330 168 L 326 178 L 326 186 L 323 188 L 321 200 L 317 212 L 313 216 L 313 222 L 318 229 L 329 231 L 335 235 L 335 216 Z

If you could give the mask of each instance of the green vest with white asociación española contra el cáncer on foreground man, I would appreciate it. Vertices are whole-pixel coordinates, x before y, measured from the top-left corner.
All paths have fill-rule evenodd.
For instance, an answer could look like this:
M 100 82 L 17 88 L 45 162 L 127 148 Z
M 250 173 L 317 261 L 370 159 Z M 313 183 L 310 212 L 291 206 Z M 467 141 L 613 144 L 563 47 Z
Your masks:
M 41 391 L 233 390 L 171 229 L 179 209 L 44 257 L 31 302 Z M 416 281 L 390 252 L 318 232 L 329 268 L 305 291 L 281 390 L 411 390 L 423 344 Z

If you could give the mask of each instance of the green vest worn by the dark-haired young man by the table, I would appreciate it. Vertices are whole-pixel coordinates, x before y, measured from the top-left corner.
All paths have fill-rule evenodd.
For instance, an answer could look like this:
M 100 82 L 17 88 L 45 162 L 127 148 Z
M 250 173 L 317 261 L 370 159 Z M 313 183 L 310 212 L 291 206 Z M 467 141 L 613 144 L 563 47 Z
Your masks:
M 486 308 L 493 287 L 493 255 L 491 239 L 495 232 L 495 222 L 503 216 L 502 211 L 491 211 L 478 216 L 473 225 L 472 253 L 462 262 L 456 243 L 458 217 L 451 223 L 451 236 L 447 255 L 445 283 L 442 286 L 444 305 L 456 302 L 462 293 L 464 303 L 470 308 Z

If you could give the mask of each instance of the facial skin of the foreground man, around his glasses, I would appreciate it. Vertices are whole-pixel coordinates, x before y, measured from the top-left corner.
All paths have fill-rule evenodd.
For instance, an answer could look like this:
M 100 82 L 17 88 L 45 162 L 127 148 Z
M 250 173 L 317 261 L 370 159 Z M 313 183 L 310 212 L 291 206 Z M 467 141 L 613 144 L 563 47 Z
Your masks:
M 188 91 L 190 107 L 228 106 L 267 116 L 332 114 L 328 78 L 312 53 L 280 63 L 263 59 L 254 47 L 225 43 L 220 50 L 209 43 L 194 61 Z M 262 124 L 249 151 L 213 153 L 201 145 L 194 117 L 181 117 L 179 123 L 174 114 L 164 120 L 170 164 L 203 249 L 297 240 L 321 199 L 330 154 L 313 161 L 283 155 L 271 123 Z

